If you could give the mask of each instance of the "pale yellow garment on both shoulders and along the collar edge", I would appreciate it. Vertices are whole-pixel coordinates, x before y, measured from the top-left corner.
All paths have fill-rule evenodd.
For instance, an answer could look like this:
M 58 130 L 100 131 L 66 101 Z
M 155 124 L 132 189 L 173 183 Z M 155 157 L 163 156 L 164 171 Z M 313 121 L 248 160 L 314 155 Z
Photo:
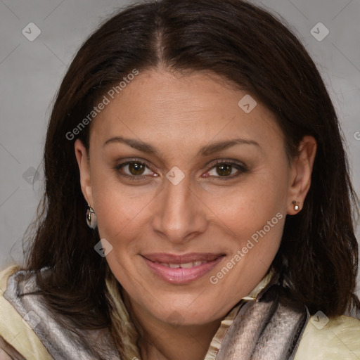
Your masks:
M 52 357 L 37 338 L 37 335 L 25 325 L 20 314 L 3 296 L 8 276 L 14 274 L 15 271 L 18 271 L 18 266 L 9 266 L 0 272 L 0 336 L 27 360 L 51 360 Z M 248 297 L 244 297 L 243 300 L 257 297 L 270 279 L 271 274 L 265 276 L 252 293 Z M 212 339 L 204 360 L 216 358 L 221 340 L 235 318 L 239 307 L 240 304 L 234 307 L 221 321 L 221 326 Z M 319 330 L 321 321 L 323 320 L 319 317 L 311 316 L 294 360 L 359 360 L 360 321 L 348 316 L 338 316 L 335 319 L 329 319 L 328 323 Z

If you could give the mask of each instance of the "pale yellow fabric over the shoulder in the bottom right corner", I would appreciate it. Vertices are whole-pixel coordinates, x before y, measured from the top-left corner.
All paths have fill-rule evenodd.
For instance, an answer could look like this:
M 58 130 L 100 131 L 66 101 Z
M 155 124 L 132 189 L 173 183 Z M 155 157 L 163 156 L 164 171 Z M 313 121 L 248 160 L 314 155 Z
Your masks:
M 294 360 L 360 359 L 360 320 L 349 316 L 311 316 Z

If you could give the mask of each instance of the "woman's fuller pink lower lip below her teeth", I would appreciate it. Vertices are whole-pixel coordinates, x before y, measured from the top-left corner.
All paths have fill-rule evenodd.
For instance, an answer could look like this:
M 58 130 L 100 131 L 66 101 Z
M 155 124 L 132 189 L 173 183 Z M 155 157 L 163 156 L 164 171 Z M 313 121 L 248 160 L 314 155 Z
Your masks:
M 148 264 L 150 269 L 153 270 L 156 275 L 162 278 L 162 280 L 167 281 L 167 283 L 172 284 L 186 284 L 202 278 L 205 274 L 214 269 L 223 258 L 224 256 L 221 256 L 211 262 L 206 262 L 205 264 L 194 266 L 190 269 L 172 269 L 162 264 L 156 264 L 155 262 L 146 259 L 146 257 L 143 257 L 146 264 Z

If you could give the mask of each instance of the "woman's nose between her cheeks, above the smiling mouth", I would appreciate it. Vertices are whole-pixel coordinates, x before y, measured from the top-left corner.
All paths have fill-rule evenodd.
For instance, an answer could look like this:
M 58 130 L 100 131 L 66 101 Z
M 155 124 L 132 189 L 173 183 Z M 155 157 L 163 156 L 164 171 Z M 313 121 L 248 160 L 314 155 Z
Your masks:
M 155 200 L 153 230 L 172 243 L 186 243 L 207 229 L 207 207 L 186 177 L 177 185 L 165 181 Z

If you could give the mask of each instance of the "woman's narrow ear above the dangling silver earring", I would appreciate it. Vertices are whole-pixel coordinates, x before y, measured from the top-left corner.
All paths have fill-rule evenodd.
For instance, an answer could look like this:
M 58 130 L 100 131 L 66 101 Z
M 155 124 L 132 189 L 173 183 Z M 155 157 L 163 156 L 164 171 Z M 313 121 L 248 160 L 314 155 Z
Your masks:
M 77 165 L 79 166 L 82 195 L 84 195 L 85 200 L 91 206 L 94 204 L 94 201 L 93 201 L 93 192 L 91 186 L 91 174 L 90 174 L 88 153 L 86 151 L 84 144 L 79 139 L 75 141 L 74 147 L 75 147 L 75 156 L 77 160 Z

